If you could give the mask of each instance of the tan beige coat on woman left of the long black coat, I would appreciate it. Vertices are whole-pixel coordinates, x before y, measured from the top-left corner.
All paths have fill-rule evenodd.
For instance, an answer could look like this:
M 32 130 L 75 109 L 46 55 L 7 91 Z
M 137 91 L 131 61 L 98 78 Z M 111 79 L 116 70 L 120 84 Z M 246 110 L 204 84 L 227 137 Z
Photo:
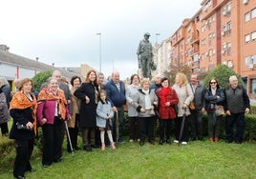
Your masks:
M 80 108 L 80 99 L 75 97 L 74 92 L 75 92 L 75 89 L 71 89 L 71 96 L 72 96 L 72 102 L 73 102 L 73 110 L 72 110 L 73 113 L 72 113 L 71 119 L 67 121 L 69 128 L 75 128 L 75 114 L 79 113 L 79 108 Z M 76 119 L 76 120 L 79 120 L 79 119 Z

